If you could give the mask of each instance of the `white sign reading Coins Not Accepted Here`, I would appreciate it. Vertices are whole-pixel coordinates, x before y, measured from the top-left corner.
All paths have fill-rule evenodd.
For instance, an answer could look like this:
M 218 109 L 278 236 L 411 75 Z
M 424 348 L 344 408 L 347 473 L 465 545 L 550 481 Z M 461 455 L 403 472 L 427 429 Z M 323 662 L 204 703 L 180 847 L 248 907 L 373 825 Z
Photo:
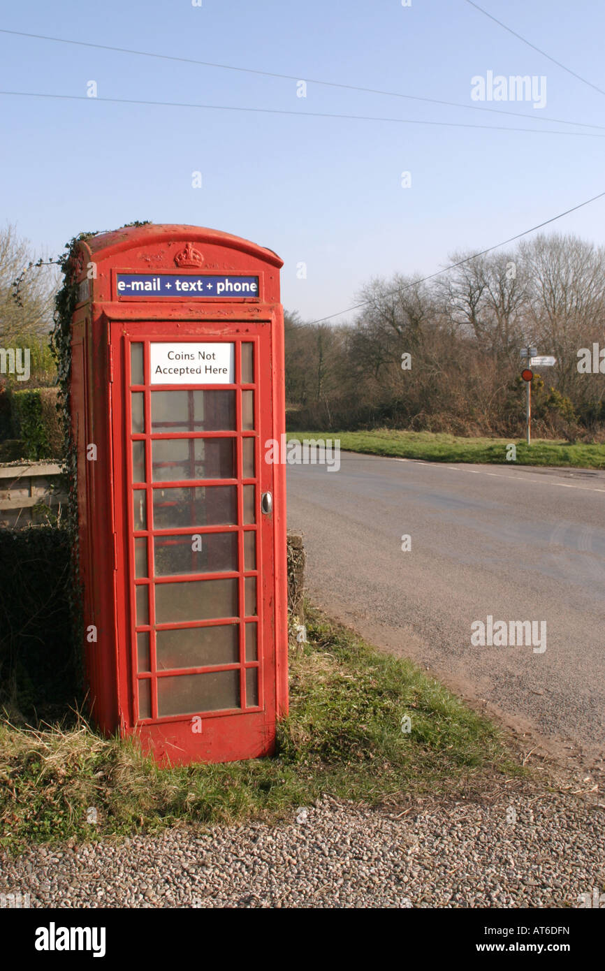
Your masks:
M 232 385 L 233 344 L 151 342 L 151 385 Z

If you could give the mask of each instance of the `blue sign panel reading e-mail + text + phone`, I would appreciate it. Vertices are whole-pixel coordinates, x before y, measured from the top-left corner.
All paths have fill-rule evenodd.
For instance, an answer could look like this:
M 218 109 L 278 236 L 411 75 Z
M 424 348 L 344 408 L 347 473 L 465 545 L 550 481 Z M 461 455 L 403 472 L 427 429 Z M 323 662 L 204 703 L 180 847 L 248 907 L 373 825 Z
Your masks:
M 179 273 L 118 273 L 118 297 L 255 297 L 258 277 L 209 277 Z

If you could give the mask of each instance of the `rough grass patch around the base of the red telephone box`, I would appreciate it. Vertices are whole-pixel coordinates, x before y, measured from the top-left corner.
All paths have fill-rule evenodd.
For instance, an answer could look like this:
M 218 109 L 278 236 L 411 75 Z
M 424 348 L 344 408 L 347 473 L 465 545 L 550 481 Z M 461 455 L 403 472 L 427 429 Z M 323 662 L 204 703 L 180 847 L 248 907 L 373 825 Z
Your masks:
M 315 613 L 308 630 L 310 643 L 292 650 L 290 715 L 272 758 L 158 769 L 131 741 L 102 738 L 84 720 L 0 726 L 0 845 L 17 852 L 191 822 L 279 820 L 323 793 L 369 804 L 471 797 L 522 777 L 500 732 L 411 661 Z

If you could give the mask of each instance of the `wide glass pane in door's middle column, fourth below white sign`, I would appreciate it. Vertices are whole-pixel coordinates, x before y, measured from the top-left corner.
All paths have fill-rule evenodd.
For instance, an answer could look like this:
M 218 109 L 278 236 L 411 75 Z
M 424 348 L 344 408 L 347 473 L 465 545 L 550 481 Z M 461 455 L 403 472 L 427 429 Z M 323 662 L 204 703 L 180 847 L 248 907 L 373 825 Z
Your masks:
M 153 548 L 158 577 L 237 570 L 237 533 L 156 536 Z

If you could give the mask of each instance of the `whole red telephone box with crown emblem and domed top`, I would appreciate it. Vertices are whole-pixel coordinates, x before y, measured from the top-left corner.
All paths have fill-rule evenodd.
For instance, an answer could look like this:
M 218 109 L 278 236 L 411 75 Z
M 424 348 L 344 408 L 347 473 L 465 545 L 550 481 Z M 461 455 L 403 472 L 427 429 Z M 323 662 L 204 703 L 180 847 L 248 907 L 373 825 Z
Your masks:
M 274 252 L 144 225 L 75 253 L 71 407 L 89 702 L 160 764 L 274 751 L 287 712 Z

